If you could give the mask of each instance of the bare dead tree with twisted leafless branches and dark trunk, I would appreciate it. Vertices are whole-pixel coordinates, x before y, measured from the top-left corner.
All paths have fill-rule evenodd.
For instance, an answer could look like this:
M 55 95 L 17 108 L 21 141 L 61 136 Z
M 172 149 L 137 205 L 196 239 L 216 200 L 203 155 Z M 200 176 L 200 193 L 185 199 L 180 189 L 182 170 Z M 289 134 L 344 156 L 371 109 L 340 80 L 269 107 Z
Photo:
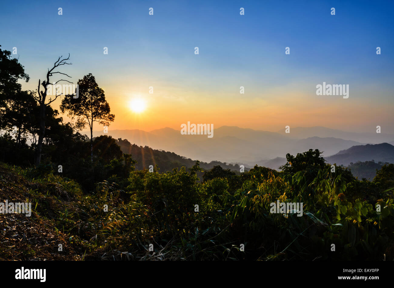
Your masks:
M 53 74 L 62 74 L 65 75 L 69 78 L 71 78 L 71 76 L 68 76 L 65 73 L 62 72 L 58 72 L 58 71 L 54 71 L 56 68 L 58 68 L 61 65 L 71 65 L 72 63 L 67 63 L 67 60 L 70 60 L 70 54 L 69 57 L 62 59 L 63 56 L 60 56 L 58 58 L 58 60 L 54 63 L 52 69 L 49 70 L 48 68 L 48 72 L 46 73 L 46 80 L 44 80 L 41 83 L 41 79 L 38 80 L 38 90 L 37 90 L 37 95 L 35 96 L 35 100 L 37 100 L 38 104 L 39 104 L 39 133 L 38 133 L 38 141 L 37 141 L 37 147 L 36 147 L 36 151 L 35 151 L 35 165 L 38 166 L 41 163 L 41 155 L 42 155 L 42 148 L 43 148 L 43 140 L 44 140 L 44 136 L 45 136 L 45 121 L 46 121 L 46 107 L 48 105 L 50 105 L 50 103 L 54 102 L 59 96 L 61 96 L 60 93 L 58 94 L 57 90 L 55 89 L 55 97 L 52 99 L 52 97 L 49 98 L 49 100 L 46 102 L 46 96 L 47 96 L 47 92 L 48 92 L 48 86 L 50 85 L 50 81 L 49 78 L 51 76 L 53 76 Z M 64 80 L 64 79 L 60 79 L 59 81 L 56 81 L 56 83 L 54 83 L 54 86 L 56 88 L 56 84 L 59 83 L 60 81 L 66 81 L 69 83 L 72 83 L 68 80 Z M 42 85 L 44 87 L 44 90 L 40 91 L 40 85 Z M 51 95 L 52 96 L 52 95 Z

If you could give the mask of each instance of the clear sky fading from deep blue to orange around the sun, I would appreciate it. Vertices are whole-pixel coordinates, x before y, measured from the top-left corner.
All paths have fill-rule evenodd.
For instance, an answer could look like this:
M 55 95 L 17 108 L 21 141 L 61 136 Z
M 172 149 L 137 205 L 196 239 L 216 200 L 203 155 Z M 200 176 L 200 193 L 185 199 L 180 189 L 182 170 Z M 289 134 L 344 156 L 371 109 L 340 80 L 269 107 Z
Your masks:
M 0 7 L 1 48 L 17 47 L 13 57 L 30 76 L 22 88 L 37 89 L 58 57 L 70 54 L 72 65 L 58 71 L 74 83 L 95 76 L 115 114 L 109 129 L 180 129 L 190 121 L 265 131 L 374 132 L 379 125 L 394 133 L 393 1 L 22 0 Z M 348 84 L 349 98 L 316 95 L 323 82 Z M 144 103 L 142 112 L 133 99 Z

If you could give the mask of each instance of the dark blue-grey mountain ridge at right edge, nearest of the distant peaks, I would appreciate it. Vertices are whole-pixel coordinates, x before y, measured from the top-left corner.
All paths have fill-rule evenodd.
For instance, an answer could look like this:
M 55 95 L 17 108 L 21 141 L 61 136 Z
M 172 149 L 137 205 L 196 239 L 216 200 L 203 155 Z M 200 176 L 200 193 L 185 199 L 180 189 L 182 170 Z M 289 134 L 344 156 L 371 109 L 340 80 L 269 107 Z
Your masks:
M 325 157 L 330 164 L 348 166 L 351 162 L 372 161 L 394 163 L 394 146 L 388 143 L 353 146 L 335 155 Z

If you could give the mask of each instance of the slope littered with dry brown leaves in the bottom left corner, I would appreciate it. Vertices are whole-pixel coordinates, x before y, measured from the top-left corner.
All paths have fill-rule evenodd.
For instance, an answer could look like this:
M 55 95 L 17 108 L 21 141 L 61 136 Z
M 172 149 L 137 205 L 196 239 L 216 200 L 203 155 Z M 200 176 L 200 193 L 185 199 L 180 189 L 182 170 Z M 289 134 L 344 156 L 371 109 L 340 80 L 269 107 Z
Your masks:
M 7 166 L 0 166 L 0 201 L 32 202 L 33 212 L 30 217 L 16 213 L 0 214 L 0 259 L 82 259 L 82 247 L 69 242 L 69 237 L 56 228 L 53 217 L 56 216 L 56 211 L 69 201 L 70 196 L 67 192 L 61 191 L 60 187 L 54 184 L 48 186 L 28 181 L 17 173 L 18 171 L 10 170 Z M 45 212 L 34 210 L 37 202 L 39 205 L 42 204 Z M 58 251 L 59 244 L 62 245 L 63 251 Z

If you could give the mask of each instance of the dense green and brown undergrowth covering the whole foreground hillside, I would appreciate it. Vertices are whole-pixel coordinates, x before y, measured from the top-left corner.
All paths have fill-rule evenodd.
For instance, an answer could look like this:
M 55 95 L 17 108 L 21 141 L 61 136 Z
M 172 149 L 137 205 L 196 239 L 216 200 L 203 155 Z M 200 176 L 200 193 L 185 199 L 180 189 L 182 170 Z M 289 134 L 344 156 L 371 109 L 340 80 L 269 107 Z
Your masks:
M 331 172 L 318 150 L 287 160 L 283 172 L 255 166 L 234 175 L 217 166 L 202 182 L 198 162 L 190 171 L 131 169 L 125 188 L 104 180 L 89 193 L 50 167 L 1 164 L 1 201 L 30 201 L 33 213 L 1 215 L 0 257 L 394 259 L 394 165 L 370 182 L 341 167 Z M 302 202 L 303 215 L 270 213 L 277 200 Z

